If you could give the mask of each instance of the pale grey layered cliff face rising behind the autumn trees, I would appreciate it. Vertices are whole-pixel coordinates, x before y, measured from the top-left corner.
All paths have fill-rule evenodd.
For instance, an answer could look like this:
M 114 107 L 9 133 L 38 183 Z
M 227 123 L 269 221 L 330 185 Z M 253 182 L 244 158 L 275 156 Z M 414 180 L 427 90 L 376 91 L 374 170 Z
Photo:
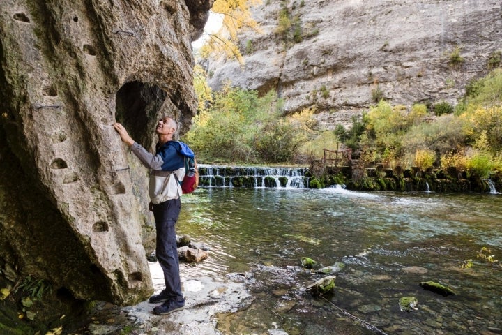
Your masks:
M 495 0 L 269 0 L 253 13 L 263 34 L 241 34 L 245 65 L 210 59 L 209 84 L 275 89 L 287 112 L 316 107 L 327 126 L 349 124 L 378 98 L 455 103 L 502 49 Z

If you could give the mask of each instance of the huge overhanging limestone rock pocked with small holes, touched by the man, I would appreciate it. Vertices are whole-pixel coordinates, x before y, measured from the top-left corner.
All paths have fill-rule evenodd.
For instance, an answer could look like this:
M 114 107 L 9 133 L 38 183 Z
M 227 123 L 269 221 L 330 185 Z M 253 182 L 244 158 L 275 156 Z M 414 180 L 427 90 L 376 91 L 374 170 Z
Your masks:
M 153 288 L 147 149 L 163 114 L 196 111 L 192 38 L 213 1 L 2 0 L 0 286 L 30 274 L 77 299 L 133 304 Z

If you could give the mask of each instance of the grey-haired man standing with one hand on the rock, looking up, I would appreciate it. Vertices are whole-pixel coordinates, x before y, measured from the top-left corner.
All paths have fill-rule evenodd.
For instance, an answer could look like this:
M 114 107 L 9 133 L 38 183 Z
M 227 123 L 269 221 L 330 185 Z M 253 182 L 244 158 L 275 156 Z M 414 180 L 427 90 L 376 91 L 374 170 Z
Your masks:
M 155 133 L 158 143 L 155 156 L 137 144 L 121 124 L 114 124 L 122 142 L 130 147 L 146 168 L 151 169 L 149 182 L 150 203 L 157 229 L 156 255 L 164 272 L 165 289 L 150 297 L 155 306 L 153 313 L 165 315 L 183 309 L 185 299 L 181 293 L 178 249 L 174 225 L 181 210 L 181 186 L 179 181 L 185 176 L 185 161 L 179 152 L 181 144 L 173 141 L 177 124 L 171 117 L 162 117 L 157 123 Z

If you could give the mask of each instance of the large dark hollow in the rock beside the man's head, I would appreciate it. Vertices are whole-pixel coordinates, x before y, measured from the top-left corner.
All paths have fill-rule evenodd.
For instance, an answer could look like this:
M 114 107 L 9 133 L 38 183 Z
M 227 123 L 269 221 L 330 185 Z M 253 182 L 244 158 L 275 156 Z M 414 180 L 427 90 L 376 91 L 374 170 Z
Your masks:
M 167 93 L 155 84 L 128 82 L 117 91 L 116 119 L 128 130 L 129 135 L 144 147 L 151 147 L 155 124 L 160 107 Z

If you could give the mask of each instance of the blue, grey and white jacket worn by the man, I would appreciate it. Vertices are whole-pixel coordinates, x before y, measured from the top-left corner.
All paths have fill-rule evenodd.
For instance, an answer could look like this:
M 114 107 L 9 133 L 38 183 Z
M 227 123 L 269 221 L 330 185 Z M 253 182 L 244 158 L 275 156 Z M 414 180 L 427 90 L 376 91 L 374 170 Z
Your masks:
M 130 147 L 142 164 L 150 169 L 149 195 L 154 204 L 179 198 L 183 192 L 179 182 L 185 177 L 184 155 L 193 156 L 192 150 L 183 142 L 169 141 L 157 145 L 155 156 L 137 142 Z M 176 177 L 174 177 L 176 174 Z

